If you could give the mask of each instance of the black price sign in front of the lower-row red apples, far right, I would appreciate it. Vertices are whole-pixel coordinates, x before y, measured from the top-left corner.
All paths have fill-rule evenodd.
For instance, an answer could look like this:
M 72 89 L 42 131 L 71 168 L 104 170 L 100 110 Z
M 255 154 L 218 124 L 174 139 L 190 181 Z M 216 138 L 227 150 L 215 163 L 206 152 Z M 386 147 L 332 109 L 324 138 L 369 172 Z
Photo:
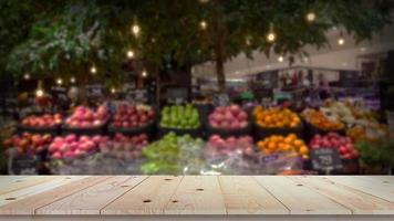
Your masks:
M 342 169 L 340 154 L 334 148 L 320 148 L 311 151 L 312 167 L 315 170 L 330 173 L 332 170 Z

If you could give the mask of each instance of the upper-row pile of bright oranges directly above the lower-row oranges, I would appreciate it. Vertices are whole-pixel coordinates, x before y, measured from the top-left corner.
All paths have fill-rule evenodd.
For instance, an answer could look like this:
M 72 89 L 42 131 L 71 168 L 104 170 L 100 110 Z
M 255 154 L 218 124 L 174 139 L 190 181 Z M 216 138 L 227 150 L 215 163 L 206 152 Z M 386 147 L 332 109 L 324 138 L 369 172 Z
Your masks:
M 300 126 L 300 118 L 288 108 L 273 107 L 265 109 L 261 106 L 255 107 L 253 116 L 260 127 L 294 128 Z

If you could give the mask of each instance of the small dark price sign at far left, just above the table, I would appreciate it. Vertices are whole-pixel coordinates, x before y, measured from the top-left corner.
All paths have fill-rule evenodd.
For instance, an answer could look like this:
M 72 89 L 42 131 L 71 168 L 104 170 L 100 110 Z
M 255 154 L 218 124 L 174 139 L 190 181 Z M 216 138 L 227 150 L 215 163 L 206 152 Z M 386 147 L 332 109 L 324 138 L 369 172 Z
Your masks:
M 37 157 L 18 156 L 11 161 L 13 175 L 38 175 L 39 160 Z

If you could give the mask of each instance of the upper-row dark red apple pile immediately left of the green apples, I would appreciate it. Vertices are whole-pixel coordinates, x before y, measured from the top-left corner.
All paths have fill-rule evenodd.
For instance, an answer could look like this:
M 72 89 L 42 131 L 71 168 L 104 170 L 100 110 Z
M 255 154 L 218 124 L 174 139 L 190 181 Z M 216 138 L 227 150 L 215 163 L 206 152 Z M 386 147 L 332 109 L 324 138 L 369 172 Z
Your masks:
M 117 107 L 113 118 L 112 127 L 115 128 L 136 128 L 145 126 L 155 118 L 155 110 L 147 105 L 126 105 Z

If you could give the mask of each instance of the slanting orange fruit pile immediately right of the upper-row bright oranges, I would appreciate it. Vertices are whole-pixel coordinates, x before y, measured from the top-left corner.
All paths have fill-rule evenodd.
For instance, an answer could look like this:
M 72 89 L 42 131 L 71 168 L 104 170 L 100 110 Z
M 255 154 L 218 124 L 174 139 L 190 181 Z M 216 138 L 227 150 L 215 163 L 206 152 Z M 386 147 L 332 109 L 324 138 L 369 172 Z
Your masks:
M 322 130 L 341 130 L 344 125 L 336 118 L 330 118 L 320 110 L 305 109 L 302 116 L 308 123 Z

